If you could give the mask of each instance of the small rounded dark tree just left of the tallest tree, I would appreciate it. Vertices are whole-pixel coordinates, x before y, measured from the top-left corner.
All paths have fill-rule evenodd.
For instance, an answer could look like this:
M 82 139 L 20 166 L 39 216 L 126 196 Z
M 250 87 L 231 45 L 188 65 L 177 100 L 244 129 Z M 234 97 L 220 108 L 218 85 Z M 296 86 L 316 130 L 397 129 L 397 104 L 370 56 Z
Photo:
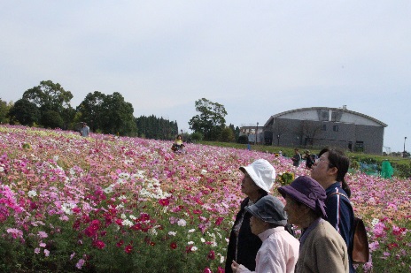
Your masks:
M 8 116 L 11 124 L 31 126 L 39 122 L 41 114 L 35 103 L 20 99 L 14 103 Z

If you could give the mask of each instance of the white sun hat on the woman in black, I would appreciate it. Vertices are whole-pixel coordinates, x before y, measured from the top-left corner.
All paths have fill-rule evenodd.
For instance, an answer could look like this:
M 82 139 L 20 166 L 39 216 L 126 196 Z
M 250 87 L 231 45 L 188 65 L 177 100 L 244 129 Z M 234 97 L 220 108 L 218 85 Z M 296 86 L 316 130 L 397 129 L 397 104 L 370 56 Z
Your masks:
M 242 166 L 240 171 L 246 171 L 252 181 L 266 192 L 269 192 L 274 185 L 275 169 L 265 159 L 257 159 L 248 166 Z

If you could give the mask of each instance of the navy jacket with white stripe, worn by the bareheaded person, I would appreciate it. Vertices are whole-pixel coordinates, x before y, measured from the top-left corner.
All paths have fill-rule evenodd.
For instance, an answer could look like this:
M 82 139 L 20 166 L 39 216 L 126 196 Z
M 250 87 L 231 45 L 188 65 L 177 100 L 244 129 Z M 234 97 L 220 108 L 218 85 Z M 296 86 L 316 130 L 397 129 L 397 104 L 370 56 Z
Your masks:
M 350 200 L 345 198 L 347 194 L 341 187 L 340 182 L 336 182 L 333 185 L 329 186 L 325 192 L 327 193 L 327 200 L 325 205 L 327 206 L 327 220 L 330 224 L 338 231 L 341 237 L 345 240 L 345 244 L 348 249 L 349 257 L 349 268 L 350 272 L 355 272 L 353 268 L 353 260 L 351 252 L 353 250 L 352 241 L 353 241 L 353 221 L 354 221 L 354 212 L 353 207 L 351 206 Z M 332 193 L 343 193 L 341 194 L 332 194 Z

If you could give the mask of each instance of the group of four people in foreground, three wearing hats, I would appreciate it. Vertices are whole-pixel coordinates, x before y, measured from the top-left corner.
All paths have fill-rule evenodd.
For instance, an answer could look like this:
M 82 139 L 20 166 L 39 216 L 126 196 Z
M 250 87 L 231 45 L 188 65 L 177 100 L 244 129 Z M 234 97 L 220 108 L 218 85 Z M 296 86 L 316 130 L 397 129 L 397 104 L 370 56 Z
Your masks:
M 322 149 L 315 160 L 309 151 L 305 156 L 311 175 L 277 188 L 285 206 L 269 193 L 275 168 L 267 160 L 239 168 L 245 198 L 230 232 L 225 272 L 355 272 L 349 159 L 337 148 Z M 295 149 L 292 163 L 300 161 Z

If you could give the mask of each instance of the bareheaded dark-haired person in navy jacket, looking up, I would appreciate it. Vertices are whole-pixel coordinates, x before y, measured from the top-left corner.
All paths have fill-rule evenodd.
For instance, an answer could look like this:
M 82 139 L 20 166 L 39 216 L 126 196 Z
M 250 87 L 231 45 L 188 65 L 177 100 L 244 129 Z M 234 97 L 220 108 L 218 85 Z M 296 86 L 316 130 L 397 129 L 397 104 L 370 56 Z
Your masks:
M 350 160 L 343 151 L 323 148 L 311 170 L 314 178 L 327 193 L 327 220 L 345 240 L 349 253 L 350 272 L 355 272 L 352 260 L 353 207 L 350 203 L 351 190 L 345 182 Z

